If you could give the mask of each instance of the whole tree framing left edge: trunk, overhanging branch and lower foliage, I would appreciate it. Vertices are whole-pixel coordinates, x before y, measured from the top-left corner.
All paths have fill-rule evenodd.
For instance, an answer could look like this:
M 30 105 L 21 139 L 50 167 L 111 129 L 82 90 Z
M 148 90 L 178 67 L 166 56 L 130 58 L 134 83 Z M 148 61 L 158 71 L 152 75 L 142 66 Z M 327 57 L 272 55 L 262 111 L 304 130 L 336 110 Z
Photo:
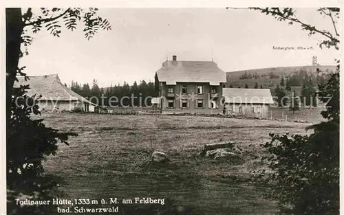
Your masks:
M 52 206 L 26 205 L 19 207 L 15 199 L 46 200 L 56 196 L 58 179 L 44 174 L 42 161 L 55 155 L 58 142 L 67 144 L 69 136 L 43 124 L 43 119 L 33 120 L 40 114 L 37 98 L 28 97 L 29 86 L 14 87 L 17 76 L 24 76 L 25 67 L 18 67 L 19 58 L 28 54 L 34 34 L 45 29 L 59 37 L 61 29 L 84 26 L 85 37 L 92 38 L 98 30 L 110 30 L 107 19 L 96 14 L 96 8 L 32 8 L 22 14 L 21 8 L 6 8 L 6 155 L 8 214 L 52 214 Z M 25 48 L 21 50 L 21 45 Z M 56 212 L 56 211 L 55 211 Z

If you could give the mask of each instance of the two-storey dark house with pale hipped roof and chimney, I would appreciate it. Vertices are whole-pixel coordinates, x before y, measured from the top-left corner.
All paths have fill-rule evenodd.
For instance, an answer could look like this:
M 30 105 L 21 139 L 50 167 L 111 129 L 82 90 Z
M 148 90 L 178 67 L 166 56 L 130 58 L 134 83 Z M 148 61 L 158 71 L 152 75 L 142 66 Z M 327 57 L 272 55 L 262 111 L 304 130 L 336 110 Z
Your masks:
M 213 61 L 166 60 L 155 73 L 162 113 L 222 113 L 226 73 Z

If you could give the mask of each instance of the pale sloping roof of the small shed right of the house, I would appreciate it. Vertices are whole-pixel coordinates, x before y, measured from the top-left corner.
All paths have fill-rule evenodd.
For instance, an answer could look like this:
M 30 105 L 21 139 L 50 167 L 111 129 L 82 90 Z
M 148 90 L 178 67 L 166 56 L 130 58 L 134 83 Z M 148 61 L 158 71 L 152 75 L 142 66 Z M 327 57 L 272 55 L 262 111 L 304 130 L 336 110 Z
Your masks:
M 222 95 L 226 103 L 274 104 L 270 89 L 224 88 Z

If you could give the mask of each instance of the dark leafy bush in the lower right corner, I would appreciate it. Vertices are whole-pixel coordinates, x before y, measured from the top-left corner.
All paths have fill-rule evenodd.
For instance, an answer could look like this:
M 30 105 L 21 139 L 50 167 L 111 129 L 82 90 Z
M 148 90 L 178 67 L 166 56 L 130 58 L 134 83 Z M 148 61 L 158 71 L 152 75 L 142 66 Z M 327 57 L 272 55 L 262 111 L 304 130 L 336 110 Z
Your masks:
M 332 97 L 321 113 L 327 122 L 309 126 L 312 135 L 271 133 L 271 141 L 262 144 L 268 155 L 261 159 L 272 173 L 258 176 L 282 214 L 339 213 L 339 70 L 319 88 Z

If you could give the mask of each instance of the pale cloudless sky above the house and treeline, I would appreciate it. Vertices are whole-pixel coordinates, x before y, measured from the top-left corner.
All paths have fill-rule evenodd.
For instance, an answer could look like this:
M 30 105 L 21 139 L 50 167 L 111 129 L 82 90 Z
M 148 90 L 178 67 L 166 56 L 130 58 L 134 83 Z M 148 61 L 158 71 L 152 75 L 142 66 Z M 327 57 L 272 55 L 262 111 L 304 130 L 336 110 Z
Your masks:
M 225 8 L 99 8 L 110 31 L 87 41 L 82 25 L 63 29 L 60 38 L 42 30 L 34 35 L 28 56 L 20 61 L 29 76 L 58 73 L 63 83 L 72 80 L 100 87 L 153 81 L 162 63 L 178 60 L 213 61 L 223 71 L 312 65 L 334 65 L 335 49 L 320 49 L 322 36 L 308 36 L 300 25 L 288 25 L 257 11 Z M 316 8 L 299 8 L 305 23 L 332 31 L 330 19 Z M 80 23 L 81 24 L 81 23 Z M 338 26 L 341 26 L 338 24 Z M 340 31 L 341 32 L 341 31 Z M 313 50 L 278 50 L 273 47 L 313 47 Z

